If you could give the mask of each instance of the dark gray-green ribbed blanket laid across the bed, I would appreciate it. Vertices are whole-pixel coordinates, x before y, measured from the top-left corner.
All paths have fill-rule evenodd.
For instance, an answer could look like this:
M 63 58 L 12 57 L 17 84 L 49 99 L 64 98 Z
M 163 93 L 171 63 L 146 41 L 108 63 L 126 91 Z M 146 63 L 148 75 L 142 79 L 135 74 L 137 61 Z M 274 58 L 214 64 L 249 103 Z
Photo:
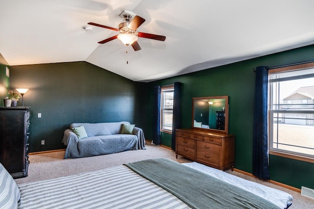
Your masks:
M 244 190 L 166 158 L 127 164 L 195 209 L 280 209 Z

